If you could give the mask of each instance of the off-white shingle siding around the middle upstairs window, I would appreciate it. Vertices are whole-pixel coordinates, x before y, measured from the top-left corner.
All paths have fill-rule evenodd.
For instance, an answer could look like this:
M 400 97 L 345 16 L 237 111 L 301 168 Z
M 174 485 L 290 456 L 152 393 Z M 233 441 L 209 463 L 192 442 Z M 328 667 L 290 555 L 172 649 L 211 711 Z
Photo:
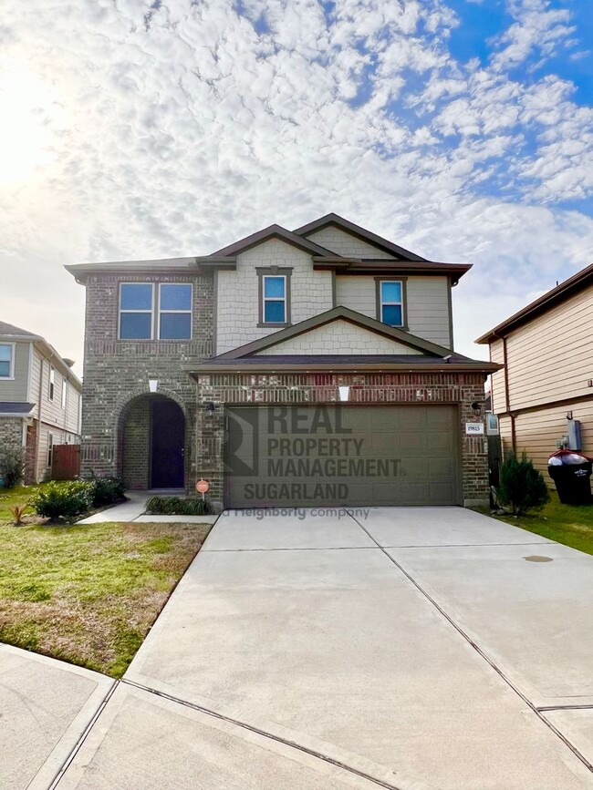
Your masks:
M 291 267 L 292 323 L 305 321 L 333 307 L 331 272 L 315 272 L 308 252 L 273 239 L 237 256 L 235 272 L 219 272 L 216 295 L 216 353 L 251 343 L 278 331 L 258 327 L 259 267 Z

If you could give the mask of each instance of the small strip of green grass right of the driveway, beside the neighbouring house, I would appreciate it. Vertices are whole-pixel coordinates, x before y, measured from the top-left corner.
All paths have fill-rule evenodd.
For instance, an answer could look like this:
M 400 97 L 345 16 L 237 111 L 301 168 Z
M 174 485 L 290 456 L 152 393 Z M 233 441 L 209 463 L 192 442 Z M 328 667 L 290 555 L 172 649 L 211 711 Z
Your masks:
M 494 518 L 593 554 L 593 505 L 562 505 L 556 491 L 550 491 L 550 501 L 538 513 Z

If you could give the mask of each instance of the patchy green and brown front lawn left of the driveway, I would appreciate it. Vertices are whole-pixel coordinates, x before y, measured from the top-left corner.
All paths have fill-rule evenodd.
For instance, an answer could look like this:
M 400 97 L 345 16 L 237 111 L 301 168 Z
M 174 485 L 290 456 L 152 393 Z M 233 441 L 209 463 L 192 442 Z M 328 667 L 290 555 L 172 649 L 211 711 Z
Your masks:
M 119 678 L 210 529 L 12 524 L 0 494 L 0 641 Z

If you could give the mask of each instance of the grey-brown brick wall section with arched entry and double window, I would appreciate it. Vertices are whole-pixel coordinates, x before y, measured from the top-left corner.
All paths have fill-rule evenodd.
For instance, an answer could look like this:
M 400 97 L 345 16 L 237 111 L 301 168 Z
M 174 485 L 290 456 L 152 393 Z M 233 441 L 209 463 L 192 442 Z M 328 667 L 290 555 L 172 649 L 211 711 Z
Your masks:
M 118 340 L 120 282 L 192 282 L 192 340 Z M 127 474 L 134 486 L 148 485 L 148 472 L 140 468 L 132 472 L 130 447 L 124 469 L 124 431 L 129 416 L 133 433 L 141 400 L 149 396 L 149 380 L 155 379 L 158 393 L 172 398 L 185 415 L 186 483 L 191 486 L 196 468 L 195 383 L 182 366 L 213 353 L 213 274 L 199 269 L 188 270 L 187 275 L 98 274 L 89 277 L 86 285 L 81 473 Z M 140 411 L 133 411 L 135 402 Z M 148 454 L 148 444 L 146 449 Z

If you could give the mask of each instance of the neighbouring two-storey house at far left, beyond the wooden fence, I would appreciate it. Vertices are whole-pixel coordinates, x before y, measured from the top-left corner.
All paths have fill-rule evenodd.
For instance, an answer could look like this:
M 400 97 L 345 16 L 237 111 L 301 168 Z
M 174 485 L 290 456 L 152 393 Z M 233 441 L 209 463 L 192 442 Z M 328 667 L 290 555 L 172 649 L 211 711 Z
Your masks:
M 80 441 L 82 384 L 38 334 L 0 321 L 0 446 L 26 449 L 25 482 L 51 477 L 53 447 Z

